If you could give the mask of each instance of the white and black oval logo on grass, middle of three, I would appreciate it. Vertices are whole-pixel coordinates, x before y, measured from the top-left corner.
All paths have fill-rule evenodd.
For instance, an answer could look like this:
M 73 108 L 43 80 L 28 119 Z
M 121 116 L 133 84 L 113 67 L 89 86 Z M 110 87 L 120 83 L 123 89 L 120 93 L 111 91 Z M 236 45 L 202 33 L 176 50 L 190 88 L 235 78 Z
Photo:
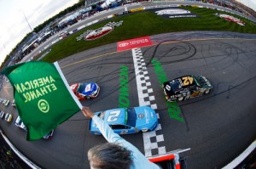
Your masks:
M 164 18 L 195 18 L 196 14 L 192 14 L 189 10 L 183 8 L 152 8 L 154 14 L 160 15 Z

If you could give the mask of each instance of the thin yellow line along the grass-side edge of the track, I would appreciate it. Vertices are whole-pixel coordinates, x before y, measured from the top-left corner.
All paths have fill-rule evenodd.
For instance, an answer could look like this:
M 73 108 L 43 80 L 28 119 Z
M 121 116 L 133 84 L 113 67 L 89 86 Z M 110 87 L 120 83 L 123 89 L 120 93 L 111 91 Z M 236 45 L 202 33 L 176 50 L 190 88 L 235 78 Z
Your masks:
M 243 39 L 243 38 L 209 38 L 209 39 L 187 39 L 187 40 L 179 40 L 179 41 L 171 41 L 170 40 L 170 42 L 163 42 L 162 44 L 168 44 L 168 43 L 173 43 L 173 42 L 210 41 L 210 40 L 245 40 L 245 41 L 256 41 L 256 39 Z M 152 46 L 155 46 L 155 45 L 157 45 L 157 44 L 154 44 Z M 131 49 L 129 49 L 129 50 L 131 50 Z M 124 51 L 127 51 L 127 50 L 124 50 Z M 101 58 L 101 57 L 107 56 L 109 54 L 117 54 L 117 53 L 124 52 L 124 51 L 112 52 L 112 53 L 108 53 L 108 54 L 101 54 L 101 55 L 98 55 L 98 56 L 93 56 L 93 57 L 88 58 L 88 59 L 82 59 L 82 60 L 80 60 L 78 62 L 73 62 L 72 64 L 63 65 L 63 66 L 61 66 L 61 68 L 66 68 L 68 66 L 77 65 L 77 64 L 80 64 L 80 63 L 82 63 L 84 61 L 88 61 L 90 59 Z

